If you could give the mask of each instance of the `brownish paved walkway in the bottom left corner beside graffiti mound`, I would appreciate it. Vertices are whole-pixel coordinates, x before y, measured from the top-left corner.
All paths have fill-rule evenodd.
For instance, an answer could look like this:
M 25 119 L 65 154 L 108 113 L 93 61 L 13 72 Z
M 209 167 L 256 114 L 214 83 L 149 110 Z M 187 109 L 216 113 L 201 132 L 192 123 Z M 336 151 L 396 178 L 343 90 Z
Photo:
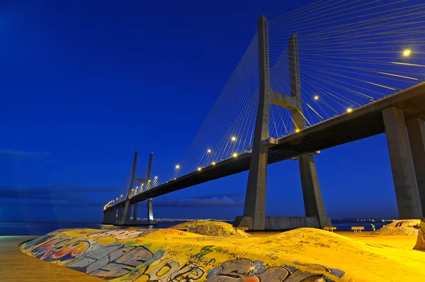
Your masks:
M 0 236 L 0 281 L 103 281 L 89 274 L 57 266 L 47 261 L 23 254 L 18 248 L 21 242 L 35 236 Z

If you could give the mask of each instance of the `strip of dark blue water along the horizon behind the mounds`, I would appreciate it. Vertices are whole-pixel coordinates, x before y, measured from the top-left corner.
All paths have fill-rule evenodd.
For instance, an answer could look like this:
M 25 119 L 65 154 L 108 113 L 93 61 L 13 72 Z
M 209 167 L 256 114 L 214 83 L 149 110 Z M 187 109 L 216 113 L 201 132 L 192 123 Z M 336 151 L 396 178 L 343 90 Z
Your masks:
M 93 229 L 117 229 L 117 228 L 167 228 L 178 225 L 181 222 L 158 222 L 152 227 L 115 227 L 112 225 L 102 225 L 98 222 L 0 222 L 0 235 L 45 235 L 57 229 L 68 228 L 93 228 Z M 233 222 L 228 222 L 232 224 Z M 365 231 L 373 231 L 371 223 L 375 224 L 378 230 L 382 225 L 390 222 L 382 221 L 357 221 L 357 220 L 332 220 L 332 225 L 337 231 L 351 231 L 351 226 L 363 226 Z

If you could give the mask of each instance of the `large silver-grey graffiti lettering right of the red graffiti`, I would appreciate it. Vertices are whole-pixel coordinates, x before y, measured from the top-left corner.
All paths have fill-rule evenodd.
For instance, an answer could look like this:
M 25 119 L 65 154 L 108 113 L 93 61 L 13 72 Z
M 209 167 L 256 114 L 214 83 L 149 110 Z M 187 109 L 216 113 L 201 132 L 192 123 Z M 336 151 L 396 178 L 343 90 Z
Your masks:
M 67 266 L 94 276 L 118 278 L 134 271 L 137 266 L 142 266 L 153 256 L 149 249 L 142 246 L 125 247 L 123 244 L 113 244 L 98 247 L 94 252 Z M 146 268 L 147 266 L 137 269 L 138 276 L 145 273 Z

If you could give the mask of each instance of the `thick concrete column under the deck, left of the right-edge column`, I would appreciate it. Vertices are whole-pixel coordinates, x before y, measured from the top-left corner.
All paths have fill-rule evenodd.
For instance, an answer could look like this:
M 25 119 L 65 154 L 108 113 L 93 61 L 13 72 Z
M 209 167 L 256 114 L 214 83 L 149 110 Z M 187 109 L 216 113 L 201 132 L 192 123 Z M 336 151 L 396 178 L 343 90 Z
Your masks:
M 412 152 L 404 113 L 394 106 L 382 111 L 400 219 L 421 218 Z

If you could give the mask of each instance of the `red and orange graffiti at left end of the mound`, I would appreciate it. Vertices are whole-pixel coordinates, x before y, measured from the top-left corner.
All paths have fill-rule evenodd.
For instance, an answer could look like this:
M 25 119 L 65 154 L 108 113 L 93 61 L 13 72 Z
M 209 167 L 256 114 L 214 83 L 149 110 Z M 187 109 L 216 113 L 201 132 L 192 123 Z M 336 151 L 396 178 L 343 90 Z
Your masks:
M 90 247 L 89 241 L 79 238 L 62 239 L 61 237 L 56 237 L 47 241 L 45 239 L 42 239 L 41 244 L 40 242 L 36 242 L 38 247 L 35 247 L 31 251 L 33 256 L 38 259 L 44 259 L 45 261 L 67 261 L 74 259 L 79 254 L 86 252 Z

